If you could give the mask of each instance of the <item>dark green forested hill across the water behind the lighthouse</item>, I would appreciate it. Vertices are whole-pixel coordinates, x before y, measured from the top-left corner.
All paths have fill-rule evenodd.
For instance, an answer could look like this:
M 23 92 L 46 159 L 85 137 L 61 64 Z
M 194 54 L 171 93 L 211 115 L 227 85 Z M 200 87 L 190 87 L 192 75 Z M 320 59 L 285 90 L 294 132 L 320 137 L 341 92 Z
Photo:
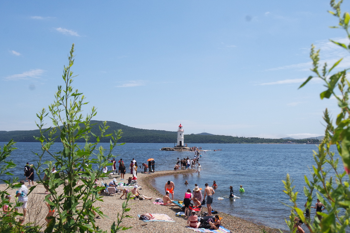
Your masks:
M 99 125 L 102 121 L 91 121 L 93 126 L 92 132 L 99 135 Z M 145 130 L 122 125 L 117 122 L 107 122 L 110 128 L 106 134 L 113 133 L 121 129 L 123 131 L 120 143 L 176 143 L 177 132 L 165 130 Z M 0 131 L 0 141 L 6 142 L 11 139 L 17 142 L 36 142 L 33 136 L 39 137 L 39 130 L 17 130 L 17 131 Z M 91 137 L 93 139 L 93 137 Z M 309 139 L 267 139 L 267 138 L 245 138 L 232 137 L 224 135 L 201 135 L 201 134 L 184 134 L 185 143 L 286 143 L 292 141 L 294 143 L 307 143 Z M 59 141 L 59 138 L 56 139 Z M 104 138 L 102 142 L 109 142 L 109 138 Z M 313 141 L 316 141 L 313 139 Z M 318 141 L 318 140 L 317 140 Z M 83 141 L 81 141 L 83 142 Z

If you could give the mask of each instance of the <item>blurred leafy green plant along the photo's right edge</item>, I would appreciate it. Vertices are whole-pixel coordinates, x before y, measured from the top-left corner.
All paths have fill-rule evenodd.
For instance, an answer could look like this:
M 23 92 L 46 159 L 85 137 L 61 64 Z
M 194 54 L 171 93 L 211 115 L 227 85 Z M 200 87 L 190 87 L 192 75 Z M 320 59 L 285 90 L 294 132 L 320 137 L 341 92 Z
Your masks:
M 329 11 L 329 13 L 336 16 L 339 21 L 338 26 L 332 28 L 343 28 L 346 32 L 347 38 L 350 39 L 350 15 L 348 12 L 341 14 L 341 3 L 342 1 L 330 1 L 330 5 L 334 9 L 334 12 Z M 331 42 L 350 52 L 350 43 L 345 45 L 332 40 Z M 318 151 L 314 151 L 316 165 L 313 166 L 313 169 L 311 170 L 312 179 L 309 180 L 306 176 L 304 177 L 306 182 L 304 194 L 308 198 L 305 209 L 297 207 L 296 199 L 298 193 L 293 192 L 294 186 L 292 187 L 292 182 L 290 181 L 288 174 L 286 181 L 283 181 L 285 185 L 285 190 L 283 191 L 289 196 L 290 201 L 292 202 L 292 206 L 290 206 L 291 214 L 289 220 L 286 220 L 290 232 L 296 231 L 293 223 L 295 216 L 304 222 L 311 233 L 345 232 L 346 230 L 349 230 L 350 224 L 350 83 L 346 78 L 346 71 L 348 69 L 339 72 L 334 71 L 342 59 L 334 63 L 329 69 L 327 68 L 326 63 L 320 68 L 319 53 L 320 50 L 315 51 L 315 46 L 313 45 L 310 52 L 310 58 L 313 61 L 313 68 L 311 71 L 314 72 L 315 77 L 323 80 L 324 86 L 327 88 L 320 94 L 320 97 L 321 99 L 329 99 L 332 96 L 336 98 L 340 113 L 337 115 L 335 124 L 333 124 L 328 110 L 326 109 L 324 111 L 323 119 L 327 124 L 325 137 L 318 146 Z M 300 88 L 315 77 L 310 76 Z M 344 172 L 339 171 L 341 169 L 338 169 L 339 158 L 330 150 L 331 145 L 336 145 L 341 162 L 343 163 Z M 318 215 L 314 221 L 310 218 L 304 217 L 303 214 L 306 209 L 310 209 L 313 201 L 313 194 L 316 194 L 320 202 L 324 204 L 326 210 L 322 213 L 317 212 Z

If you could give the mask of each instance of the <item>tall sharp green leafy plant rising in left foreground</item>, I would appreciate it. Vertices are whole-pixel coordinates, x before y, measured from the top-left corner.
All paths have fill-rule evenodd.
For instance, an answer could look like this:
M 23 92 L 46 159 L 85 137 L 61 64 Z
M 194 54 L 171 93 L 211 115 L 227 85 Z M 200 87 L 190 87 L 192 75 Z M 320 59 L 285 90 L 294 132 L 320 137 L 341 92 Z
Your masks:
M 40 180 L 39 183 L 42 183 L 50 192 L 50 195 L 45 197 L 45 201 L 52 209 L 56 208 L 56 215 L 51 217 L 52 220 L 47 225 L 45 232 L 102 232 L 96 226 L 94 217 L 95 214 L 102 217 L 106 215 L 93 204 L 96 201 L 102 201 L 98 192 L 103 188 L 96 187 L 94 182 L 99 177 L 106 176 L 102 173 L 102 169 L 106 165 L 111 165 L 108 159 L 113 157 L 112 151 L 117 146 L 122 132 L 119 130 L 114 134 L 106 134 L 105 131 L 109 128 L 106 122 L 99 126 L 99 135 L 91 132 L 90 121 L 96 115 L 96 109 L 93 107 L 86 117 L 81 114 L 82 107 L 87 102 L 85 102 L 84 95 L 78 90 L 73 90 L 71 86 L 75 77 L 71 71 L 74 63 L 73 52 L 74 44 L 68 56 L 69 63 L 64 66 L 62 75 L 65 86 L 58 86 L 55 101 L 49 105 L 49 112 L 42 109 L 37 114 L 40 137 L 36 137 L 36 140 L 40 141 L 42 151 L 40 154 L 36 153 L 38 162 L 34 169 Z M 46 116 L 52 120 L 53 128 L 43 129 Z M 45 135 L 48 136 L 45 137 Z M 52 152 L 50 147 L 57 137 L 61 140 L 63 149 L 59 152 Z M 93 137 L 96 143 L 89 143 L 90 137 Z M 106 137 L 111 138 L 108 149 L 98 146 L 100 140 Z M 78 145 L 79 139 L 85 141 L 84 145 Z M 51 161 L 42 162 L 45 153 L 51 156 L 53 163 Z M 47 165 L 49 169 L 42 171 L 41 168 L 44 165 Z M 50 170 L 54 165 L 57 172 L 51 173 Z M 45 173 L 48 179 L 43 180 L 41 173 Z M 56 192 L 60 185 L 63 185 L 63 193 Z M 30 190 L 34 188 L 35 186 Z M 52 201 L 49 199 L 50 196 Z M 127 205 L 123 205 L 121 219 L 124 217 L 124 212 L 128 211 L 126 207 Z M 125 229 L 118 228 L 118 231 Z

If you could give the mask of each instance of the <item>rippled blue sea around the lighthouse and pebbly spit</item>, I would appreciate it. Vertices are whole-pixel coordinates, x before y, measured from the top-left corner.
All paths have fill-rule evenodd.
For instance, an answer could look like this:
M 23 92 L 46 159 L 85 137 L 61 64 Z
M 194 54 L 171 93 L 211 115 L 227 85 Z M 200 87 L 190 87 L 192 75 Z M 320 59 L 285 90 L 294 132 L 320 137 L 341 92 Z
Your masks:
M 0 143 L 2 146 L 5 143 Z M 83 145 L 83 144 L 81 144 Z M 108 143 L 101 143 L 105 148 Z M 173 170 L 177 158 L 193 158 L 194 152 L 161 151 L 162 147 L 173 147 L 173 144 L 152 143 L 127 143 L 117 146 L 113 154 L 116 159 L 123 158 L 126 165 L 133 158 L 142 165 L 147 159 L 155 160 L 155 170 Z M 303 188 L 306 185 L 304 175 L 311 177 L 310 169 L 315 165 L 313 150 L 317 151 L 317 145 L 306 144 L 188 144 L 202 147 L 202 157 L 199 162 L 202 167 L 200 174 L 180 174 L 157 177 L 152 180 L 152 185 L 161 193 L 164 192 L 165 183 L 170 180 L 175 184 L 174 199 L 183 200 L 187 189 L 193 190 L 195 184 L 202 188 L 204 195 L 204 184 L 210 186 L 216 181 L 218 187 L 215 189 L 212 209 L 237 216 L 253 223 L 268 227 L 288 230 L 285 219 L 289 217 L 290 209 L 283 203 L 290 204 L 288 197 L 283 192 L 282 180 L 286 179 L 287 173 L 295 185 L 294 191 L 298 194 L 298 206 L 304 206 L 306 197 Z M 17 150 L 13 151 L 9 159 L 12 159 L 17 167 L 9 172 L 23 179 L 23 170 L 26 162 L 36 164 L 37 155 L 41 152 L 40 143 L 16 143 Z M 53 152 L 62 149 L 62 145 L 55 143 Z M 219 151 L 214 151 L 218 150 Z M 336 154 L 336 148 L 331 147 Z M 336 155 L 338 156 L 338 155 Z M 52 160 L 50 155 L 45 154 L 43 160 Z M 147 162 L 148 163 L 148 162 Z M 128 167 L 128 166 L 126 166 Z M 110 169 L 110 167 L 109 167 Z M 197 169 L 195 166 L 193 169 Z M 343 172 L 342 166 L 339 166 Z M 138 172 L 141 172 L 141 168 Z M 1 180 L 10 177 L 3 174 Z M 188 181 L 188 184 L 185 184 Z M 3 181 L 1 181 L 3 183 Z M 234 194 L 239 197 L 230 199 L 230 185 Z M 245 192 L 239 192 L 239 185 L 243 185 Z M 222 197 L 223 199 L 218 199 Z M 315 205 L 315 203 L 313 203 Z M 315 210 L 311 209 L 311 216 Z M 306 227 L 303 227 L 306 230 Z

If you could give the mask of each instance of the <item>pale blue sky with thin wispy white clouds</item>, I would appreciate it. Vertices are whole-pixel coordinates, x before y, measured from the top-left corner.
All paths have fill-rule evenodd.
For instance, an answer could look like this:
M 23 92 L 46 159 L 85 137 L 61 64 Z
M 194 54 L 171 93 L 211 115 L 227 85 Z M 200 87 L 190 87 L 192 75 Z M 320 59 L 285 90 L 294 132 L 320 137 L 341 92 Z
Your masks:
M 335 98 L 309 75 L 321 62 L 349 67 L 329 1 L 0 1 L 0 131 L 35 130 L 36 114 L 64 85 L 84 114 L 141 129 L 261 138 L 324 135 Z M 344 1 L 343 12 L 350 10 Z M 47 126 L 50 119 L 45 120 Z

